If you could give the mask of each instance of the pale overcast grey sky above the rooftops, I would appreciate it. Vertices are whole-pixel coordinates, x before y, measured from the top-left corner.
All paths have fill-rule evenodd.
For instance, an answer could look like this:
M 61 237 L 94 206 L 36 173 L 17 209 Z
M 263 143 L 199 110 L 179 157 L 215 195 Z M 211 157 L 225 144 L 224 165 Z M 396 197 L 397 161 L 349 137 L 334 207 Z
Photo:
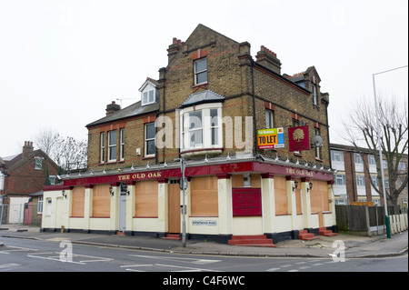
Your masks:
M 116 98 L 130 105 L 167 65 L 172 38 L 206 25 L 252 55 L 265 45 L 294 75 L 314 65 L 330 94 L 332 142 L 356 98 L 373 102 L 372 74 L 408 64 L 407 0 L 0 0 L 0 155 L 41 127 L 86 138 Z M 407 99 L 407 68 L 378 75 L 383 95 Z M 119 101 L 117 101 L 119 102 Z

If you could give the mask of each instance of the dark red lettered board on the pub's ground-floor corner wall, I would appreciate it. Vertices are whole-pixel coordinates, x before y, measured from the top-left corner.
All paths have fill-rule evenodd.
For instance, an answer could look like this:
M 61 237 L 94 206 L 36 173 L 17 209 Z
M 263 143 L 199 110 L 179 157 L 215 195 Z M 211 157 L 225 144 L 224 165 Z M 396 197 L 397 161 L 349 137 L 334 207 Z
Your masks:
M 262 216 L 260 188 L 233 188 L 233 216 Z

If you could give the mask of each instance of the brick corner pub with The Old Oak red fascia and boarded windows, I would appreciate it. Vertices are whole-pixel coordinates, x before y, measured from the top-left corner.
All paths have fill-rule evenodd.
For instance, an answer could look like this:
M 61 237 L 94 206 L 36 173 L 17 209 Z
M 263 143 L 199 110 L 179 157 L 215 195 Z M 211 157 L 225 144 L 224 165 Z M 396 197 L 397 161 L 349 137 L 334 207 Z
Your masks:
M 336 232 L 327 105 L 314 66 L 282 75 L 205 25 L 167 49 L 141 100 L 86 125 L 88 167 L 45 186 L 43 231 L 255 244 Z M 187 186 L 181 189 L 185 159 Z

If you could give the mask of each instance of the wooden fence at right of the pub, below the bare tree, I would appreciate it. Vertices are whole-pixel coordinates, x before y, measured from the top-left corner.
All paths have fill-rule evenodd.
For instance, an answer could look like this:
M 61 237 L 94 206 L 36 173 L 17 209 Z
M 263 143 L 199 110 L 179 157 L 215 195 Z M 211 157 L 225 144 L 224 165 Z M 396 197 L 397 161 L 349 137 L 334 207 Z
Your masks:
M 356 235 L 382 235 L 386 233 L 384 206 L 335 205 L 336 225 L 339 232 Z M 388 206 L 391 234 L 407 230 L 408 215 L 399 207 Z

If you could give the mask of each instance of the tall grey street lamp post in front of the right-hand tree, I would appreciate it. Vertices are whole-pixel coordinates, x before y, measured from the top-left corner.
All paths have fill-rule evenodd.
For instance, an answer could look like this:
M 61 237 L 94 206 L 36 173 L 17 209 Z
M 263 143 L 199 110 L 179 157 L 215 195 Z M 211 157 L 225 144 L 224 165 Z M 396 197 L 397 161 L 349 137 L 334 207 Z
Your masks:
M 384 193 L 384 222 L 386 224 L 386 236 L 387 238 L 391 238 L 391 225 L 389 222 L 389 215 L 388 215 L 388 205 L 386 202 L 386 188 L 384 187 L 384 166 L 383 166 L 383 157 L 382 157 L 382 147 L 381 147 L 381 125 L 379 122 L 379 117 L 378 117 L 378 102 L 376 100 L 376 86 L 375 86 L 375 75 L 381 75 L 384 73 L 392 72 L 394 70 L 400 69 L 407 67 L 407 65 L 396 67 L 393 69 L 389 69 L 384 72 L 372 74 L 372 82 L 374 85 L 374 102 L 375 102 L 375 115 L 376 115 L 376 124 L 377 124 L 377 135 L 378 135 L 378 150 L 379 150 L 379 163 L 380 163 L 380 168 L 381 168 L 381 176 L 382 176 L 382 189 Z

